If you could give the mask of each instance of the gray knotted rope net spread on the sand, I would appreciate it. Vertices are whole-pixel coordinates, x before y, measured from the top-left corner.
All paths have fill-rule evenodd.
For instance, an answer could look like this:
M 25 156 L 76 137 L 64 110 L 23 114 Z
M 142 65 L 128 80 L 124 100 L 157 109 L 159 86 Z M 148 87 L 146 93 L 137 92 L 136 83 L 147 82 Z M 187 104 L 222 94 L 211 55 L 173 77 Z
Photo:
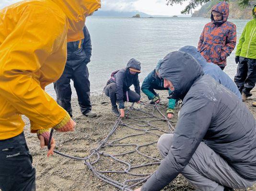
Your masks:
M 145 106 L 147 108 L 151 108 L 151 112 L 147 112 L 145 110 L 142 109 L 142 106 Z M 132 114 L 133 112 L 140 112 L 142 113 L 144 116 L 141 117 L 133 117 Z M 158 113 L 158 115 L 160 115 L 160 117 L 155 114 Z M 140 152 L 140 148 L 142 147 L 147 147 L 150 145 L 154 145 L 157 143 L 157 141 L 152 141 L 151 143 L 147 143 L 144 145 L 139 145 L 136 143 L 129 143 L 129 144 L 118 144 L 117 142 L 124 140 L 126 138 L 131 138 L 131 137 L 136 137 L 136 136 L 145 136 L 145 135 L 153 135 L 156 136 L 157 138 L 159 138 L 161 135 L 158 135 L 157 133 L 151 132 L 151 131 L 159 131 L 162 133 L 173 133 L 173 131 L 175 130 L 175 128 L 172 126 L 172 121 L 169 120 L 165 115 L 163 115 L 163 113 L 160 111 L 159 106 L 158 105 L 151 105 L 151 104 L 147 104 L 144 102 L 140 103 L 140 108 L 135 108 L 134 107 L 134 103 L 129 107 L 128 111 L 126 112 L 126 118 L 128 119 L 132 119 L 135 122 L 133 123 L 124 123 L 124 119 L 121 119 L 121 117 L 117 118 L 115 125 L 113 126 L 113 128 L 111 129 L 111 131 L 109 132 L 109 134 L 107 135 L 107 137 L 100 141 L 99 146 L 96 149 L 91 149 L 91 154 L 87 157 L 84 158 L 79 158 L 79 157 L 74 157 L 74 156 L 70 156 L 67 154 L 63 154 L 57 150 L 54 150 L 55 153 L 57 153 L 58 155 L 61 155 L 63 157 L 67 157 L 70 159 L 76 159 L 76 160 L 84 160 L 84 164 L 90 169 L 92 170 L 93 174 L 99 178 L 100 180 L 103 180 L 113 186 L 115 186 L 116 188 L 122 190 L 122 191 L 132 191 L 132 188 L 135 188 L 136 186 L 138 186 L 139 184 L 141 184 L 142 182 L 146 181 L 151 174 L 149 173 L 132 173 L 130 172 L 130 170 L 133 169 L 138 169 L 141 167 L 147 167 L 147 166 L 152 166 L 152 165 L 159 165 L 161 160 L 148 156 L 142 152 Z M 146 119 L 150 119 L 149 121 L 147 121 Z M 152 125 L 153 122 L 157 122 L 157 121 L 164 121 L 167 123 L 169 131 L 165 131 L 160 127 L 156 127 L 155 125 Z M 140 123 L 140 124 L 139 124 Z M 123 138 L 118 138 L 112 141 L 109 141 L 109 138 L 116 132 L 117 127 L 122 126 L 122 128 L 130 128 L 133 130 L 138 130 L 141 133 L 138 134 L 131 134 L 128 136 L 125 136 Z M 147 127 L 147 128 L 146 128 Z M 48 142 L 48 145 L 50 145 L 49 143 L 51 142 L 51 138 L 52 138 L 52 134 L 53 134 L 53 129 L 51 130 L 50 133 L 50 139 Z M 127 151 L 127 152 L 123 152 L 123 153 L 117 153 L 117 154 L 109 154 L 104 152 L 103 149 L 105 149 L 106 147 L 134 147 L 134 149 Z M 49 149 L 49 147 L 48 147 Z M 131 154 L 131 153 L 138 153 L 139 155 L 147 158 L 147 159 L 151 159 L 154 162 L 149 162 L 146 164 L 141 164 L 141 165 L 137 165 L 137 166 L 132 166 L 130 163 L 122 160 L 122 159 L 118 159 L 117 157 L 120 156 L 125 156 L 127 154 Z M 93 156 L 95 156 L 93 158 Z M 117 162 L 120 162 L 124 165 L 124 170 L 97 170 L 93 165 L 96 164 L 97 162 L 99 162 L 99 160 L 101 159 L 101 157 L 106 157 L 106 158 L 110 158 L 113 159 Z M 92 160 L 94 159 L 94 160 Z M 119 174 L 128 174 L 131 176 L 135 176 L 138 177 L 136 179 L 131 179 L 131 180 L 125 180 L 123 182 L 118 182 L 116 180 L 113 180 L 109 177 L 107 177 L 106 175 L 104 175 L 105 173 L 119 173 Z

